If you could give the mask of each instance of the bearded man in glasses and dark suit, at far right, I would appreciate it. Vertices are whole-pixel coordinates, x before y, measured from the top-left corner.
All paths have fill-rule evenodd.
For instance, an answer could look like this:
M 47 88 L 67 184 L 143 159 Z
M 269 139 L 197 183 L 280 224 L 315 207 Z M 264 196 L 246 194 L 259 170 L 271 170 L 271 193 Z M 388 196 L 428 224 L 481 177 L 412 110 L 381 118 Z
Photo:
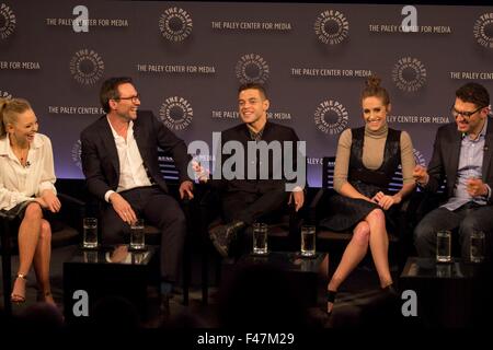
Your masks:
M 458 229 L 466 260 L 472 232 L 483 231 L 486 247 L 491 244 L 493 120 L 489 113 L 490 95 L 484 86 L 471 82 L 457 90 L 451 108 L 456 122 L 438 129 L 428 170 L 414 170 L 414 178 L 425 190 L 436 191 L 447 180 L 447 202 L 425 215 L 414 231 L 420 256 L 435 256 L 439 230 Z

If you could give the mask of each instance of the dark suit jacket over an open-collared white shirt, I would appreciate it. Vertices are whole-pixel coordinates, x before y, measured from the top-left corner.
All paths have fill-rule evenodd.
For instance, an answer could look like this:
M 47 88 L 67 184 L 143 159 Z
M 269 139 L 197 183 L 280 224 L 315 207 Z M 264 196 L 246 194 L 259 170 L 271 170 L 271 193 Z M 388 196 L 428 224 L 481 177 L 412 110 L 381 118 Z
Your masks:
M 150 177 L 168 191 L 167 184 L 158 165 L 158 147 L 170 154 L 180 172 L 180 182 L 188 179 L 187 165 L 190 156 L 186 145 L 151 112 L 139 110 L 134 120 L 134 137 L 137 142 L 144 165 Z M 81 132 L 82 171 L 85 175 L 89 191 L 104 200 L 104 195 L 116 190 L 119 182 L 119 160 L 106 116 L 102 116 Z

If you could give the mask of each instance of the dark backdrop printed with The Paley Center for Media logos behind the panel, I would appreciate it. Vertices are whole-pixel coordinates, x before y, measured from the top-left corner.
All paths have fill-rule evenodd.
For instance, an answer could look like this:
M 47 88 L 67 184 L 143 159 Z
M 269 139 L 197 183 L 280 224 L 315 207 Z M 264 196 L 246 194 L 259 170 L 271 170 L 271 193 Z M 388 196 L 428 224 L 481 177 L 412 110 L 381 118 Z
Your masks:
M 79 136 L 103 114 L 101 83 L 129 75 L 141 109 L 210 149 L 240 122 L 238 86 L 264 83 L 268 117 L 307 141 L 320 186 L 322 158 L 363 125 L 371 73 L 390 93 L 389 125 L 427 164 L 457 88 L 493 95 L 493 7 L 0 0 L 0 96 L 33 104 L 61 178 L 83 177 Z

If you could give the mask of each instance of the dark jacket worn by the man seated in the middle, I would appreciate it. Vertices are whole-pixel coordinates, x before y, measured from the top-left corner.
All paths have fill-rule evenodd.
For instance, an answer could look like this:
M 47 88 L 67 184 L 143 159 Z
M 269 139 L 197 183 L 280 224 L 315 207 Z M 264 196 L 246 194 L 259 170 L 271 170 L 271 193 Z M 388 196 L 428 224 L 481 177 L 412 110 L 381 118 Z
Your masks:
M 274 124 L 267 121 L 264 127 L 264 131 L 262 133 L 262 140 L 270 143 L 272 141 L 293 141 L 293 150 L 294 153 L 291 155 L 284 154 L 284 148 L 280 143 L 280 150 L 283 151 L 283 156 L 273 158 L 272 152 L 270 152 L 268 156 L 268 179 L 260 179 L 259 168 L 255 171 L 256 177 L 255 179 L 248 179 L 248 141 L 251 141 L 250 132 L 248 126 L 245 124 L 240 124 L 236 127 L 227 129 L 221 133 L 221 149 L 228 141 L 239 141 L 244 149 L 244 179 L 233 178 L 233 179 L 225 179 L 225 174 L 222 174 L 222 179 L 220 182 L 213 182 L 214 186 L 220 187 L 222 190 L 227 191 L 248 191 L 248 192 L 261 192 L 264 194 L 271 189 L 279 188 L 279 186 L 285 185 L 286 177 L 284 174 L 284 162 L 286 156 L 293 156 L 294 160 L 294 168 L 296 170 L 296 142 L 299 141 L 298 136 L 295 130 L 282 126 L 278 124 Z M 225 162 L 233 156 L 233 154 L 222 154 L 222 162 Z M 251 165 L 252 166 L 252 165 Z M 265 167 L 267 164 L 260 164 L 260 167 Z M 227 166 L 229 167 L 229 166 Z M 215 170 L 218 171 L 218 170 Z M 278 171 L 280 174 L 280 178 L 275 178 L 275 171 Z M 294 180 L 293 180 L 294 182 Z

